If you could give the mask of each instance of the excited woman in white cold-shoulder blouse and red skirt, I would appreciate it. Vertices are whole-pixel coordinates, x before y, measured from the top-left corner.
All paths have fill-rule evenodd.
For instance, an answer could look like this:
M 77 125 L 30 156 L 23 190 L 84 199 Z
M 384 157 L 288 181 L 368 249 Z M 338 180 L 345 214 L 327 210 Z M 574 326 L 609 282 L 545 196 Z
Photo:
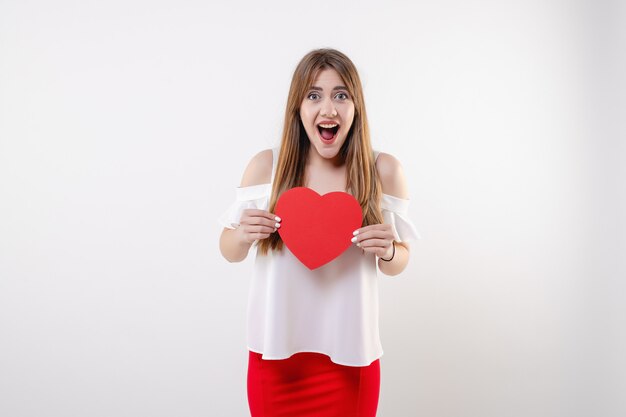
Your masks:
M 276 202 L 299 186 L 347 192 L 363 212 L 354 245 L 314 270 L 276 233 Z M 224 258 L 239 262 L 257 243 L 248 304 L 253 417 L 376 415 L 383 353 L 376 265 L 386 275 L 407 265 L 406 241 L 419 238 L 407 198 L 399 162 L 371 148 L 352 61 L 333 49 L 308 53 L 291 81 L 280 149 L 252 158 L 222 216 Z

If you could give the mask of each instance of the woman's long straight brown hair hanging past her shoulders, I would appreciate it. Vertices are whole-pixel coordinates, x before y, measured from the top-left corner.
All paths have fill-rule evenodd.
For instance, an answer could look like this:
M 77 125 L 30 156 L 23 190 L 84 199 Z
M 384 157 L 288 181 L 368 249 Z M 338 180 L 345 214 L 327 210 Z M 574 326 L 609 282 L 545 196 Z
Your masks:
M 339 151 L 346 164 L 347 191 L 361 205 L 363 226 L 382 223 L 382 191 L 370 142 L 361 80 L 350 58 L 335 49 L 327 48 L 315 49 L 306 54 L 293 73 L 269 211 L 274 212 L 276 201 L 284 191 L 304 185 L 304 169 L 311 144 L 300 119 L 300 104 L 319 71 L 326 68 L 332 68 L 339 73 L 354 102 L 352 126 Z M 270 249 L 281 250 L 282 246 L 280 235 L 273 233 L 267 239 L 259 241 L 258 252 L 265 255 Z

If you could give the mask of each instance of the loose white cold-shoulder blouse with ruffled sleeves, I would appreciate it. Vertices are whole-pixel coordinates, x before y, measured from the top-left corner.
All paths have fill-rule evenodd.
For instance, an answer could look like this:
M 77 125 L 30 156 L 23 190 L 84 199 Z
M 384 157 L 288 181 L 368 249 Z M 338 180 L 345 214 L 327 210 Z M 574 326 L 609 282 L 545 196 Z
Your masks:
M 272 151 L 273 182 L 278 149 Z M 234 229 L 243 210 L 267 210 L 272 182 L 237 188 L 220 223 Z M 421 239 L 408 208 L 409 200 L 383 194 L 383 218 L 393 226 L 397 242 Z M 376 256 L 353 245 L 311 271 L 286 246 L 268 255 L 255 253 L 247 319 L 248 349 L 263 359 L 317 352 L 340 365 L 367 366 L 383 354 Z

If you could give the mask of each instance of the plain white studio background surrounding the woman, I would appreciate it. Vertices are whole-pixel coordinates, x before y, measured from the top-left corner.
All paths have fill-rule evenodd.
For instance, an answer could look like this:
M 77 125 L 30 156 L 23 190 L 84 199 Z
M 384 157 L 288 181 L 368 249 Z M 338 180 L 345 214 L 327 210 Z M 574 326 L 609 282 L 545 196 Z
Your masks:
M 626 415 L 624 12 L 1 0 L 0 415 L 248 415 L 217 218 L 318 47 L 424 237 L 380 277 L 379 416 Z

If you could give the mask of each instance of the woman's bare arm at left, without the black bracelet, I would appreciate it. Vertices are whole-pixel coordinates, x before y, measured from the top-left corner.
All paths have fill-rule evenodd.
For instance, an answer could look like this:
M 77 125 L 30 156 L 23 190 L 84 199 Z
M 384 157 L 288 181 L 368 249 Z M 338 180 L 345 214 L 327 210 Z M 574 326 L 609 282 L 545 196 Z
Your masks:
M 272 177 L 272 150 L 255 155 L 248 164 L 241 187 L 267 184 Z M 241 262 L 255 240 L 265 239 L 276 231 L 275 216 L 265 210 L 244 210 L 236 229 L 224 228 L 220 236 L 220 252 L 229 262 Z

